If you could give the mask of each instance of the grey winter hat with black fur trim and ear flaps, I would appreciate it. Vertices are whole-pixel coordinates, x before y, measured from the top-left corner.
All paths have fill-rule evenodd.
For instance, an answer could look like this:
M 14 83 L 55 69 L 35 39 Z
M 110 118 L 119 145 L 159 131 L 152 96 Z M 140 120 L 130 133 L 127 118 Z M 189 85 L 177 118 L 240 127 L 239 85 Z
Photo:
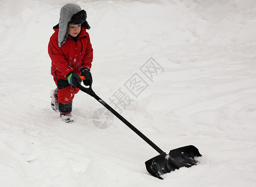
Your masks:
M 66 42 L 67 35 L 69 34 L 70 24 L 82 24 L 86 29 L 90 29 L 88 22 L 86 21 L 86 11 L 81 10 L 81 7 L 77 4 L 66 4 L 61 8 L 59 17 L 59 46 Z

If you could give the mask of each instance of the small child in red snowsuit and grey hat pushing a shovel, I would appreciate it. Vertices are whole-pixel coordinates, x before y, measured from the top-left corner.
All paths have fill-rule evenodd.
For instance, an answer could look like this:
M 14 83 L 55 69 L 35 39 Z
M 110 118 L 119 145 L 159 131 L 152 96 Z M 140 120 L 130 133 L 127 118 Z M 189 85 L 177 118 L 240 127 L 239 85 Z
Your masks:
M 85 85 L 92 84 L 92 45 L 86 29 L 86 11 L 77 4 L 66 4 L 61 8 L 59 24 L 53 27 L 48 53 L 52 60 L 51 74 L 57 89 L 51 92 L 51 106 L 60 112 L 62 121 L 74 122 L 72 100 L 79 91 L 77 88 L 86 77 Z

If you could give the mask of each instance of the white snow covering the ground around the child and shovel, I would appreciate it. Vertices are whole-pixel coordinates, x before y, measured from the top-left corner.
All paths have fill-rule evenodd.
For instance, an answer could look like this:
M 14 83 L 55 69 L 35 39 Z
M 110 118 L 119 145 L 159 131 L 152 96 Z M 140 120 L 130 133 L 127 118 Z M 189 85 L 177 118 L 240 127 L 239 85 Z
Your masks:
M 117 118 L 95 127 L 102 105 L 86 93 L 75 123 L 52 111 L 47 44 L 67 2 L 87 11 L 97 95 L 115 107 L 121 89 L 122 116 L 167 152 L 195 145 L 199 165 L 150 176 L 158 153 Z M 0 17 L 0 186 L 256 185 L 254 0 L 1 0 Z M 152 80 L 151 57 L 164 69 Z M 148 85 L 137 97 L 135 73 Z

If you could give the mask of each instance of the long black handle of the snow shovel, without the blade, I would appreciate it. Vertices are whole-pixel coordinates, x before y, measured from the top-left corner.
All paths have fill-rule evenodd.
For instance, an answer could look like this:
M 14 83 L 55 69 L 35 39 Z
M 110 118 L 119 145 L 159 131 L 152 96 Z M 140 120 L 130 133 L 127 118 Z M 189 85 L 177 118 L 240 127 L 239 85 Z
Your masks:
M 106 102 L 104 102 L 104 100 L 102 100 L 99 96 L 97 96 L 96 93 L 92 90 L 92 86 L 91 85 L 88 88 L 83 87 L 82 85 L 79 85 L 78 88 L 80 90 L 82 90 L 82 92 L 85 92 L 85 93 L 91 95 L 92 97 L 96 98 L 96 100 L 98 102 L 100 102 L 104 107 L 106 107 L 107 110 L 109 110 L 111 113 L 116 115 L 116 117 L 119 118 L 119 120 L 124 122 L 124 124 L 126 124 L 131 130 L 133 130 L 137 135 L 139 135 L 140 138 L 145 140 L 158 153 L 160 153 L 160 154 L 164 153 L 164 151 L 161 150 L 157 145 L 155 145 L 155 143 L 153 143 L 151 140 L 149 140 L 149 138 L 147 138 L 142 132 L 137 130 L 137 128 L 135 128 L 130 122 L 128 122 L 124 117 L 122 117 L 118 112 L 116 112 L 116 110 L 114 110 L 111 106 L 109 106 Z

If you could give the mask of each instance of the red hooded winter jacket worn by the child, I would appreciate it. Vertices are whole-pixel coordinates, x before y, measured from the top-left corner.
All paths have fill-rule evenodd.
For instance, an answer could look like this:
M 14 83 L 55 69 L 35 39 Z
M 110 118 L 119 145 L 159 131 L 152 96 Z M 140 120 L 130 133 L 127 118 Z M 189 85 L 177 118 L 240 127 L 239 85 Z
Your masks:
M 58 25 L 54 27 L 54 31 L 48 45 L 48 53 L 52 60 L 51 74 L 54 77 L 66 79 L 71 71 L 80 75 L 83 67 L 91 69 L 93 50 L 86 28 L 81 27 L 77 42 L 68 36 L 61 47 L 58 46 Z

